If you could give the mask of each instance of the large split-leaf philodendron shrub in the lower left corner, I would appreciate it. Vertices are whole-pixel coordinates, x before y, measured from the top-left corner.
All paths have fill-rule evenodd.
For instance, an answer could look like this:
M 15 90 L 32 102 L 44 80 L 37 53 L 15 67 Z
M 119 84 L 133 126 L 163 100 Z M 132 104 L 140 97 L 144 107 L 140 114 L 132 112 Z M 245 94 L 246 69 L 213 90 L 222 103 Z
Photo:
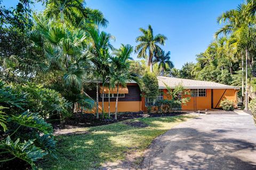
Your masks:
M 21 159 L 35 169 L 37 160 L 46 155 L 55 157 L 53 128 L 41 114 L 27 109 L 34 106 L 28 96 L 29 93 L 0 81 L 0 168 Z M 47 111 L 51 112 L 50 108 Z

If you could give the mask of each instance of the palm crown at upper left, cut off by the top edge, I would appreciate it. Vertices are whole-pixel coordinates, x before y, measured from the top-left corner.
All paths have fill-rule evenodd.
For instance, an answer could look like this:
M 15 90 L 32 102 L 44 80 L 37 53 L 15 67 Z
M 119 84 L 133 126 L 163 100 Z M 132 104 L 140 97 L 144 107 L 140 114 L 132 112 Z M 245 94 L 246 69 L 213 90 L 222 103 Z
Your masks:
M 74 27 L 83 27 L 86 23 L 93 23 L 106 27 L 108 21 L 99 10 L 85 7 L 83 0 L 41 0 L 45 4 L 47 18 L 59 18 L 64 23 L 65 18 Z

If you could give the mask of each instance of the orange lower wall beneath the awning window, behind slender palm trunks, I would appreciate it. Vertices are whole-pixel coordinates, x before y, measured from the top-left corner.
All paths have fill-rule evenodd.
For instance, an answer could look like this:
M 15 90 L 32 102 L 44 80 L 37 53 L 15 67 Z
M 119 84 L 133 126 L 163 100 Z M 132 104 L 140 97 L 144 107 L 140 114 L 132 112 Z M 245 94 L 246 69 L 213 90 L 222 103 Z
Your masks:
M 110 112 L 115 112 L 116 102 L 110 101 Z M 117 112 L 139 112 L 141 101 L 118 101 Z M 99 102 L 99 112 L 102 112 L 102 102 Z M 108 113 L 108 101 L 104 101 L 104 112 Z M 96 108 L 88 113 L 96 113 Z

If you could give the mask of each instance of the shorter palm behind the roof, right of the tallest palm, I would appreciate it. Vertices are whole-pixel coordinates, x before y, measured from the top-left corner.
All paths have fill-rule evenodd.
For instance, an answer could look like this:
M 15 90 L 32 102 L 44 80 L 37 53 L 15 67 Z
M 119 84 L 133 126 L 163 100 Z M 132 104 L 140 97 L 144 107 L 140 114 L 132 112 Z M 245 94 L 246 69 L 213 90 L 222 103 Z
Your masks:
M 165 53 L 164 50 L 155 53 L 155 59 L 153 63 L 158 63 L 158 70 L 162 67 L 161 76 L 164 76 L 164 72 L 174 67 L 172 61 L 170 61 L 171 52 Z

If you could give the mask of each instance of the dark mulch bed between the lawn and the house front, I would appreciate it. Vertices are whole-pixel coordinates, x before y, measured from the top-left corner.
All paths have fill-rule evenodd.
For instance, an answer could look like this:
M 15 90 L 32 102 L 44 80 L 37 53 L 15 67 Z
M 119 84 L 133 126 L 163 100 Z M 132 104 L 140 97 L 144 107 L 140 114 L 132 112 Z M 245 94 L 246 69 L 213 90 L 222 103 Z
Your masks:
M 114 120 L 114 114 L 110 115 L 110 118 L 97 119 L 94 114 L 74 114 L 72 117 L 69 117 L 65 120 L 64 123 L 52 123 L 54 129 L 73 129 L 73 128 L 84 128 L 91 126 L 100 126 L 106 125 L 110 123 L 115 123 L 119 121 L 129 120 L 132 118 L 139 117 L 164 117 L 164 116 L 177 116 L 186 114 L 185 112 L 175 112 L 175 113 L 153 113 L 153 114 L 143 114 L 143 112 L 129 112 L 129 113 L 121 113 L 117 115 L 117 120 Z

